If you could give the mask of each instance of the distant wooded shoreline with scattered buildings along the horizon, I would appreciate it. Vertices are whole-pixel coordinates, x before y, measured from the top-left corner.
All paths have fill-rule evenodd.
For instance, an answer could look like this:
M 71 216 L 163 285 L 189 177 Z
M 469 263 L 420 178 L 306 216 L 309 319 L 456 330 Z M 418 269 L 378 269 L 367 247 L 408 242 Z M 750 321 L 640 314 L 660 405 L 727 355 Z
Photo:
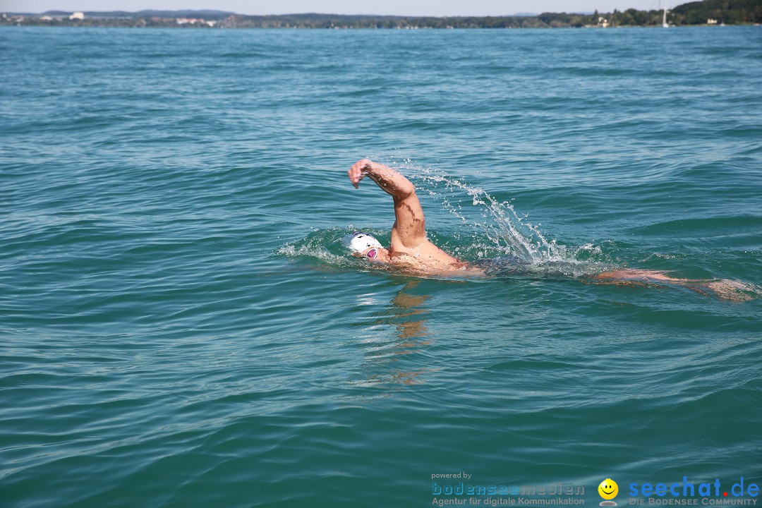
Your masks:
M 375 16 L 354 14 L 277 14 L 255 16 L 228 11 L 46 11 L 40 14 L 5 13 L 0 26 L 135 27 L 135 28 L 278 28 L 278 29 L 512 29 L 613 28 L 668 26 L 723 26 L 762 24 L 762 0 L 704 0 L 677 5 L 667 11 L 649 10 L 511 16 Z

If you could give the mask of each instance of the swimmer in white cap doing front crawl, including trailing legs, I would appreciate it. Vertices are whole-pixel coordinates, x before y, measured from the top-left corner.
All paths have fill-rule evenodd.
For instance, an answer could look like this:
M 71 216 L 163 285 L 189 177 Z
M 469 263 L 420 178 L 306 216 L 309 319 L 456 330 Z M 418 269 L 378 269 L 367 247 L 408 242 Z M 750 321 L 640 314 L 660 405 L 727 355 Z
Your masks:
M 418 273 L 459 273 L 466 276 L 487 274 L 480 267 L 450 256 L 426 238 L 424 210 L 415 194 L 415 187 L 398 171 L 363 158 L 354 163 L 348 174 L 349 181 L 356 189 L 367 176 L 394 200 L 395 222 L 389 248 L 384 248 L 373 235 L 354 232 L 345 242 L 354 255 Z M 697 292 L 706 294 L 711 291 L 721 298 L 733 300 L 751 299 L 751 296 L 744 295 L 744 291 L 754 292 L 752 286 L 733 280 L 676 279 L 656 270 L 629 268 L 599 273 L 588 280 L 636 286 L 680 284 Z

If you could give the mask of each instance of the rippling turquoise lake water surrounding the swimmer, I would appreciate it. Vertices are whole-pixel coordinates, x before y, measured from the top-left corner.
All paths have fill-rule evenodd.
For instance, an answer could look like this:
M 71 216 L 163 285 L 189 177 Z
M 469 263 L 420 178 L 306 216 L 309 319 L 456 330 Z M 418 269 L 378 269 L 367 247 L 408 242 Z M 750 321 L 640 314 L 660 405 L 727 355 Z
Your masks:
M 0 30 L 0 506 L 760 484 L 762 299 L 581 281 L 762 284 L 760 64 L 759 27 Z M 354 260 L 363 157 L 532 269 Z

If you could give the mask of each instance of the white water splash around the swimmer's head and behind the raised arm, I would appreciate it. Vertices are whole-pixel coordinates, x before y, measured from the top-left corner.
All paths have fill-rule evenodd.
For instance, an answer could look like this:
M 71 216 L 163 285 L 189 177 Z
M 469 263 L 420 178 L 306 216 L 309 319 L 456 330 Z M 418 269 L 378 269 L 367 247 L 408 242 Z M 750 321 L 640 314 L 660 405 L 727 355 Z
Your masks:
M 548 240 L 539 227 L 520 216 L 514 206 L 491 196 L 480 187 L 450 177 L 443 170 L 415 165 L 410 159 L 389 161 L 399 168 L 418 189 L 431 196 L 440 209 L 457 219 L 453 230 L 437 222 L 427 235 L 444 251 L 473 263 L 488 261 L 488 273 L 498 276 L 590 276 L 614 265 L 599 246 L 584 244 L 568 247 Z M 389 244 L 389 231 L 359 226 Z M 367 263 L 352 257 L 341 245 L 344 236 L 355 231 L 355 225 L 344 228 L 313 230 L 306 238 L 286 244 L 277 254 L 319 260 L 331 267 L 369 270 Z

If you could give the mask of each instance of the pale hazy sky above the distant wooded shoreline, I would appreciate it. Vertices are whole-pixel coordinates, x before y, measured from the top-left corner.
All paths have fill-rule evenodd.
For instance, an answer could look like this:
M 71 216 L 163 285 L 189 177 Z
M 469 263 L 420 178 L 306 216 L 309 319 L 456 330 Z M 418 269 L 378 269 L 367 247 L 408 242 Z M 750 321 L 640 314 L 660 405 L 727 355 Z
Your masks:
M 688 0 L 669 2 L 671 5 Z M 408 16 L 499 16 L 516 12 L 623 11 L 655 9 L 659 0 L 0 0 L 0 11 L 140 11 L 142 9 L 216 9 L 239 14 L 401 14 Z

